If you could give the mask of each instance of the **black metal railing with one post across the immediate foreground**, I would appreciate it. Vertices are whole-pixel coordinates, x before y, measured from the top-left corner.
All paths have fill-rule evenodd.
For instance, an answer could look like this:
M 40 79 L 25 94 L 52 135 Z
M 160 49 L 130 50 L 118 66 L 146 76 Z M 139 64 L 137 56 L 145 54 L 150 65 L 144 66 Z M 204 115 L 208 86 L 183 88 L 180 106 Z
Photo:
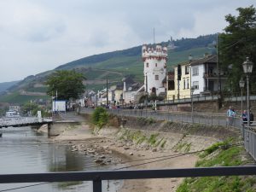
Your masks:
M 156 169 L 97 172 L 50 172 L 0 175 L 0 183 L 38 183 L 92 181 L 93 192 L 102 192 L 102 180 L 148 179 L 171 177 L 212 177 L 255 175 L 256 166 L 221 166 L 185 169 Z

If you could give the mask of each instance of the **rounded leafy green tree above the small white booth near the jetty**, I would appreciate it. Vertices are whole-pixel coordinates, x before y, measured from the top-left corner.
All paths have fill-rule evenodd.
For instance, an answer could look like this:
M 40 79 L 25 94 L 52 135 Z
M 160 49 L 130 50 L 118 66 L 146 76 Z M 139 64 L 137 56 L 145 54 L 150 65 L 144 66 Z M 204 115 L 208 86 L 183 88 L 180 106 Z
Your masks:
M 49 85 L 47 94 L 58 99 L 69 100 L 78 99 L 84 93 L 84 75 L 75 71 L 56 71 L 49 76 L 46 83 Z

